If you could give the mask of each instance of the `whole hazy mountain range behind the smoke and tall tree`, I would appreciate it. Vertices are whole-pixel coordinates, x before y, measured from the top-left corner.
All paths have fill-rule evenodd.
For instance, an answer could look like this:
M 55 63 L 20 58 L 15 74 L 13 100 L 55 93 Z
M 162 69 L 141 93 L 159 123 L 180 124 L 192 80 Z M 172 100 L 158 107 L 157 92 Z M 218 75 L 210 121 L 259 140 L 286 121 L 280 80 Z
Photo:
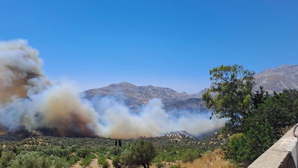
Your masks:
M 273 90 L 298 89 L 298 65 L 282 65 L 278 68 L 267 69 L 255 75 L 256 88 L 260 85 L 269 93 Z M 111 96 L 117 101 L 126 104 L 132 110 L 139 110 L 152 98 L 160 98 L 166 111 L 187 110 L 190 112 L 208 111 L 205 107 L 202 94 L 206 89 L 196 94 L 177 92 L 171 88 L 155 86 L 136 86 L 127 82 L 110 84 L 106 87 L 84 91 L 85 97 L 92 99 L 94 96 Z

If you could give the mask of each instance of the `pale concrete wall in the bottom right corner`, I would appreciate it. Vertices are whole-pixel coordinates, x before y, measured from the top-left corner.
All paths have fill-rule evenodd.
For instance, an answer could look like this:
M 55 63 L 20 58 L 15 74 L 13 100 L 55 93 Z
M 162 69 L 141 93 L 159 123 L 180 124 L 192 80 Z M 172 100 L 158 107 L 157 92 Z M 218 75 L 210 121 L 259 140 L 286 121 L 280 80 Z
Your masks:
M 298 168 L 297 138 L 292 131 L 293 128 L 248 168 Z M 298 128 L 296 134 L 298 135 Z

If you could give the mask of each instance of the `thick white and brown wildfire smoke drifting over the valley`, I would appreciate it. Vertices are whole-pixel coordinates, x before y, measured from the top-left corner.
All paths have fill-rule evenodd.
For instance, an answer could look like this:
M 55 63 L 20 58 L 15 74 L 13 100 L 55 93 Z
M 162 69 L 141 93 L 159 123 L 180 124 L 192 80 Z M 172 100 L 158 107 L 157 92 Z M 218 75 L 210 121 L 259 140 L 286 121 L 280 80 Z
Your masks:
M 130 139 L 177 130 L 199 135 L 224 125 L 224 120 L 209 120 L 207 115 L 171 116 L 159 99 L 152 99 L 137 114 L 111 98 L 91 103 L 70 83 L 51 84 L 42 63 L 26 40 L 0 42 L 0 128 L 12 133 Z

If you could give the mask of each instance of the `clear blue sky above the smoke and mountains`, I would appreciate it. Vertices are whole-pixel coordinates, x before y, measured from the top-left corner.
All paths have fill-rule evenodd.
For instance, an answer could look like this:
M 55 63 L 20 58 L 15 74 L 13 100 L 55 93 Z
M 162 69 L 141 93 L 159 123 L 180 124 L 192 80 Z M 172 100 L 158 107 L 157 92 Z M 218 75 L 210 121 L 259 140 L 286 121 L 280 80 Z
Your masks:
M 40 51 L 51 80 L 196 93 L 209 70 L 298 64 L 297 0 L 2 0 L 0 40 Z

